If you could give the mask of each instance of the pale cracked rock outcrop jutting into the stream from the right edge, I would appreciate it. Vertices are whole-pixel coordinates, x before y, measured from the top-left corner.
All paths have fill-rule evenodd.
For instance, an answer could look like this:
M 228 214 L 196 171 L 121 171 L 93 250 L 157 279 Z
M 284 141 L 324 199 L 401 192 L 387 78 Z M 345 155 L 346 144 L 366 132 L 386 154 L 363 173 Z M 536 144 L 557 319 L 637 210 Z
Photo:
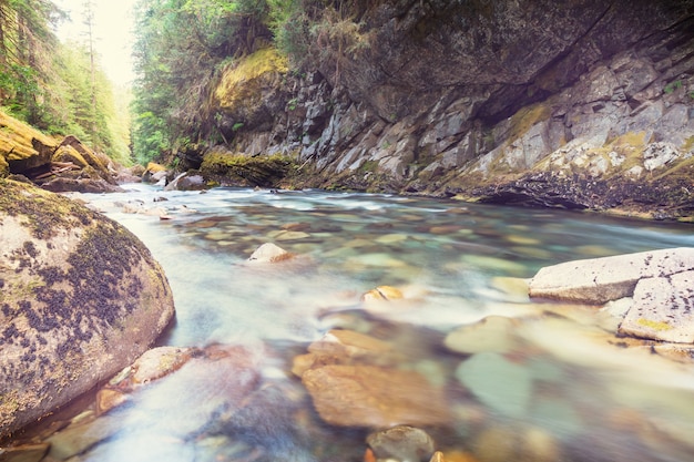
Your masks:
M 568 261 L 540 269 L 531 297 L 602 305 L 627 298 L 622 333 L 694 343 L 694 248 Z

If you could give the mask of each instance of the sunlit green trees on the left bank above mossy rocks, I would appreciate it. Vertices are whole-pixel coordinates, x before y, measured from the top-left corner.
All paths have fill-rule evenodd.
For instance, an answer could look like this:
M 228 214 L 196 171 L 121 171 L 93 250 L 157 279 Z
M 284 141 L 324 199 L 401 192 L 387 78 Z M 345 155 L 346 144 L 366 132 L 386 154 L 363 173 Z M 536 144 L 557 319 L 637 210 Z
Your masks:
M 64 19 L 49 0 L 0 0 L 0 104 L 11 115 L 54 134 L 73 134 L 94 150 L 130 163 L 127 119 L 120 114 L 99 60 L 52 32 Z

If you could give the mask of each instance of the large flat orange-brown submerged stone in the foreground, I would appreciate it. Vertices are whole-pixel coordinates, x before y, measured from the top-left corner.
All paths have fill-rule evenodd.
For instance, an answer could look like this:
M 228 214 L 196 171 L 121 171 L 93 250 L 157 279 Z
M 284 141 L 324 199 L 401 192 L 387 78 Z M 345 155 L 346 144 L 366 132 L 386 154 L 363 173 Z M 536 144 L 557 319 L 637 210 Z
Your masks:
M 325 366 L 302 376 L 323 420 L 339 427 L 446 424 L 443 391 L 420 373 L 374 366 Z

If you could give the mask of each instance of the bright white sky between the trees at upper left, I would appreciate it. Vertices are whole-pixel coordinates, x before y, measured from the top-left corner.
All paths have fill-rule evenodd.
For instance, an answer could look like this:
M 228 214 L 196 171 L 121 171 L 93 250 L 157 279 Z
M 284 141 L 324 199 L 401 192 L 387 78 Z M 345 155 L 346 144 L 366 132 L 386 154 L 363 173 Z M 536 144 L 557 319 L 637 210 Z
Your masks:
M 83 24 L 84 0 L 53 0 L 65 10 L 71 20 L 60 24 L 58 37 L 86 42 L 86 27 Z M 111 81 L 126 85 L 134 79 L 133 44 L 133 4 L 135 0 L 92 0 L 94 11 L 93 33 L 96 39 L 94 49 L 101 57 L 101 64 Z

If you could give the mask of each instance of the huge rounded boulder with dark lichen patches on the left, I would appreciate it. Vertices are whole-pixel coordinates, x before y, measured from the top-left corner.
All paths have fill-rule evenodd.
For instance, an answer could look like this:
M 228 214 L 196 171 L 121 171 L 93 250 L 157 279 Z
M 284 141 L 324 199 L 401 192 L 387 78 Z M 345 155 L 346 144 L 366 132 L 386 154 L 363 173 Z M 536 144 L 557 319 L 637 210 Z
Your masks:
M 64 197 L 0 179 L 0 435 L 133 362 L 173 298 L 130 232 Z

